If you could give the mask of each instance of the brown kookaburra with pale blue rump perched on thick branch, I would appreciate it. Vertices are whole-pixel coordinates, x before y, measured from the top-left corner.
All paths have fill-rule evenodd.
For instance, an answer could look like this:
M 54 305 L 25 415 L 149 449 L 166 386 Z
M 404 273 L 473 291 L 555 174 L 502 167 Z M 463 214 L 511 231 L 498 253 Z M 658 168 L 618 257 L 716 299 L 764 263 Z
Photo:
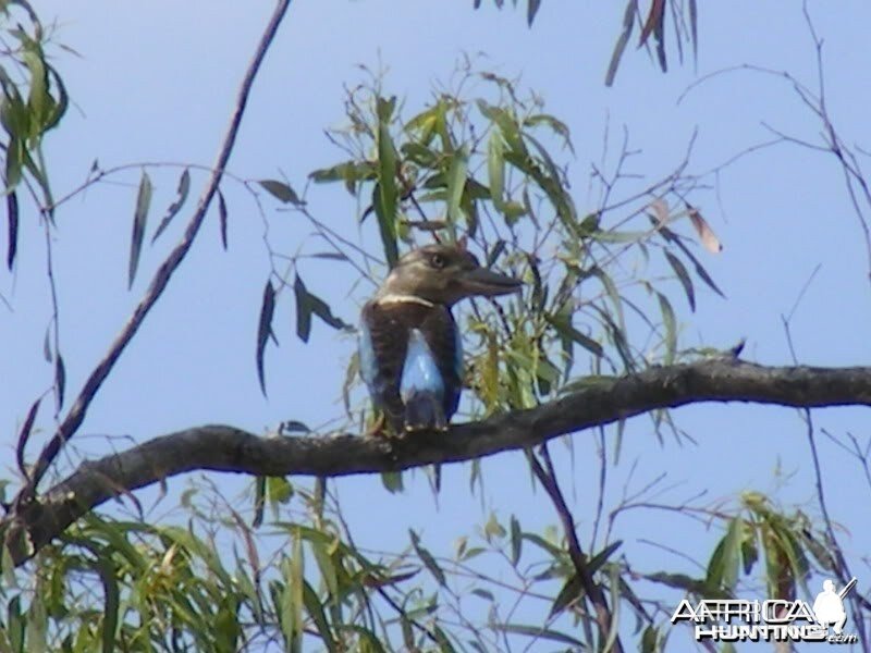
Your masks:
M 394 433 L 445 431 L 456 412 L 463 338 L 451 308 L 466 297 L 506 295 L 522 285 L 481 267 L 465 241 L 427 245 L 397 261 L 364 305 L 359 330 L 360 375 Z

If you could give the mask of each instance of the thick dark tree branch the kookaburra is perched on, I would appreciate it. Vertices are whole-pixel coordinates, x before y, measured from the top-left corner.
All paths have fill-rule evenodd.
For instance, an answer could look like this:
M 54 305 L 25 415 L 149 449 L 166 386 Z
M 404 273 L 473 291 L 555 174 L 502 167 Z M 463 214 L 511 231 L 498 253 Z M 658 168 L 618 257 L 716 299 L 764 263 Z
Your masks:
M 83 463 L 36 501 L 13 505 L 0 529 L 21 564 L 106 501 L 187 471 L 339 477 L 402 470 L 531 447 L 655 408 L 701 402 L 871 406 L 871 367 L 764 367 L 725 358 L 658 367 L 604 380 L 531 410 L 392 441 L 349 434 L 267 439 L 233 427 L 198 427 Z

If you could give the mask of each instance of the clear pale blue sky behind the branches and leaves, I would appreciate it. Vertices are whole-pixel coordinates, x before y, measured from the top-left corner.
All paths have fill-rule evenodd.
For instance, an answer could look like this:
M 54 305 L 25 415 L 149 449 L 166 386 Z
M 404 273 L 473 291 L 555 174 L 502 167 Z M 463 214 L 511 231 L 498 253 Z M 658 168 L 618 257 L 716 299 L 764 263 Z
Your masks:
M 283 173 L 302 188 L 308 172 L 342 159 L 323 130 L 342 123 L 343 84 L 360 79 L 358 64 L 378 67 L 381 62 L 389 71 L 385 89 L 404 98 L 412 111 L 422 108 L 432 83 L 446 79 L 459 56 L 479 51 L 496 72 L 520 75 L 525 86 L 543 96 L 547 110 L 569 125 L 577 152 L 571 178 L 581 212 L 596 207 L 598 195 L 587 190 L 590 162 L 600 160 L 609 125 L 612 134 L 625 125 L 631 146 L 641 150 L 631 170 L 648 182 L 683 159 L 696 131 L 690 171 L 697 173 L 769 140 L 763 122 L 818 139 L 820 127 L 813 116 L 788 84 L 771 76 L 746 71 L 724 74 L 677 103 L 700 76 L 740 64 L 788 71 L 812 87 L 817 81 L 813 45 L 799 3 L 699 4 L 697 69 L 691 61 L 679 65 L 670 47 L 672 70 L 663 75 L 646 53 L 630 47 L 614 87 L 605 88 L 604 71 L 623 3 L 549 0 L 529 29 L 523 11 L 487 7 L 475 12 L 469 0 L 299 0 L 256 83 L 230 169 L 252 178 Z M 79 184 L 95 158 L 103 169 L 139 161 L 210 164 L 240 78 L 272 8 L 267 2 L 223 0 L 68 0 L 38 1 L 35 7 L 47 22 L 57 16 L 57 40 L 81 54 L 56 52 L 74 101 L 61 130 L 47 143 L 57 195 Z M 824 1 L 810 2 L 809 8 L 825 39 L 831 114 L 845 141 L 871 147 L 867 74 L 871 5 L 845 0 L 837 9 Z M 179 171 L 149 173 L 156 184 L 156 217 L 172 200 Z M 137 281 L 128 292 L 138 172 L 114 181 L 124 183 L 93 187 L 58 214 L 56 274 L 68 403 L 126 321 L 187 214 L 183 211 L 176 218 L 156 247 L 145 247 Z M 204 176 L 195 174 L 193 181 L 192 196 Z M 744 157 L 707 181 L 712 188 L 695 196 L 696 204 L 725 248 L 719 256 L 699 249 L 699 256 L 727 299 L 699 286 L 698 308 L 690 313 L 679 285 L 673 283 L 683 343 L 726 348 L 747 337 L 747 359 L 788 365 L 781 316 L 792 310 L 820 266 L 792 323 L 797 355 L 811 365 L 869 365 L 869 261 L 834 159 L 784 144 Z M 267 357 L 269 399 L 261 396 L 254 352 L 269 273 L 263 225 L 249 196 L 232 184 L 225 185 L 225 193 L 230 250 L 221 249 L 212 214 L 168 293 L 94 402 L 76 436 L 79 454 L 125 448 L 203 423 L 265 432 L 281 420 L 315 427 L 341 417 L 341 386 L 355 341 L 316 323 L 311 341 L 302 344 L 293 333 L 287 297 L 281 298 L 277 317 L 282 346 L 270 348 Z M 372 242 L 373 224 L 369 221 L 363 233 L 358 231 L 356 207 L 339 185 L 315 187 L 308 199 L 312 213 L 333 229 Z M 285 219 L 272 220 L 273 243 L 291 254 L 303 244 L 318 249 L 300 217 L 287 213 Z M 0 342 L 5 343 L 0 353 L 0 424 L 7 433 L 0 446 L 10 460 L 9 473 L 14 468 L 17 426 L 53 373 L 41 357 L 50 317 L 42 236 L 35 215 L 24 215 L 23 222 L 16 268 L 11 274 L 0 273 L 0 293 L 14 309 L 0 307 Z M 328 299 L 336 315 L 356 321 L 369 286 L 352 292 L 353 274 L 335 273 L 329 261 L 306 262 L 300 270 L 309 288 Z M 712 501 L 728 500 L 744 490 L 759 490 L 773 493 L 784 506 L 815 513 L 805 426 L 796 411 L 697 405 L 674 416 L 697 444 L 661 445 L 648 420 L 633 420 L 622 463 L 611 471 L 606 505 L 619 500 L 637 461 L 631 488 L 667 473 L 663 485 L 672 489 L 659 501 L 679 503 L 700 491 Z M 871 438 L 867 409 L 819 410 L 814 419 L 818 428 L 834 434 L 850 431 L 862 442 Z M 44 419 L 41 426 L 50 429 L 50 420 Z M 560 443 L 553 447 L 562 457 L 563 482 L 573 492 L 581 540 L 588 546 L 598 486 L 591 435 L 574 438 L 574 465 L 566 447 Z M 832 517 L 844 525 L 842 542 L 860 587 L 867 588 L 871 489 L 855 460 L 824 438 L 820 443 Z M 74 459 L 68 458 L 68 464 Z M 549 502 L 526 482 L 522 454 L 488 459 L 484 475 L 484 496 L 469 497 L 468 466 L 445 469 L 438 505 L 420 473 L 408 475 L 407 491 L 400 495 L 389 494 L 378 479 L 344 479 L 338 488 L 358 543 L 373 549 L 403 547 L 413 527 L 424 532 L 434 552 L 450 554 L 453 539 L 474 532 L 491 509 L 505 520 L 515 513 L 530 530 L 556 523 Z M 247 482 L 238 481 L 240 491 L 243 481 Z M 171 481 L 174 489 L 185 483 Z M 651 532 L 663 543 L 698 554 L 702 562 L 722 537 L 716 529 L 673 515 L 641 510 L 622 518 L 617 532 L 645 571 L 686 564 L 645 544 Z

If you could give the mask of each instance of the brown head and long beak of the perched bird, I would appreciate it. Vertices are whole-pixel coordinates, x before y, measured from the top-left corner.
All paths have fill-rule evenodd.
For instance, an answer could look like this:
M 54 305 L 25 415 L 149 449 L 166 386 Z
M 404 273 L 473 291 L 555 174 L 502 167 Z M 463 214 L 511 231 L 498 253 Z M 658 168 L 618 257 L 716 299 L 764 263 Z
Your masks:
M 494 297 L 520 289 L 519 279 L 482 268 L 464 247 L 427 245 L 409 251 L 391 270 L 380 297 L 413 296 L 452 306 L 464 297 Z

